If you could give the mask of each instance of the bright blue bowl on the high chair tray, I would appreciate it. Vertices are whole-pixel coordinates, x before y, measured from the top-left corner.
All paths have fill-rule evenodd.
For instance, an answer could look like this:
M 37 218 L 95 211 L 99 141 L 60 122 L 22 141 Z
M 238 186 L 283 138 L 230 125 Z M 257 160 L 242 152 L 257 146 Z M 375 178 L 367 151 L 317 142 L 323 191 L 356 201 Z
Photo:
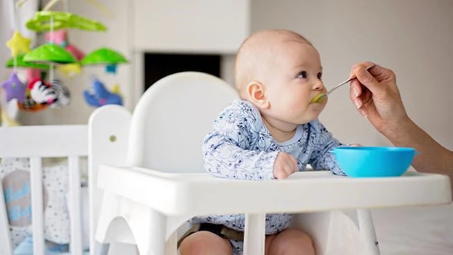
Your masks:
M 402 147 L 337 147 L 331 152 L 349 177 L 400 176 L 418 153 Z

